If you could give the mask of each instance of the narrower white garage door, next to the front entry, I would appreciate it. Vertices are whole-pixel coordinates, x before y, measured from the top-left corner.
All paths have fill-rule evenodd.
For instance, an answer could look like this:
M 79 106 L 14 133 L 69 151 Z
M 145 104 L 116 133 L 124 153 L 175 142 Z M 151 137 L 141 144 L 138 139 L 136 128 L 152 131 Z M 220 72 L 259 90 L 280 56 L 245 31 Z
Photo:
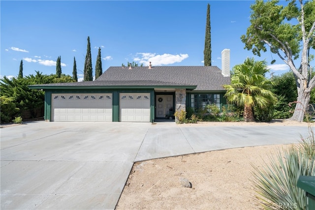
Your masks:
M 120 93 L 122 122 L 150 122 L 150 93 Z

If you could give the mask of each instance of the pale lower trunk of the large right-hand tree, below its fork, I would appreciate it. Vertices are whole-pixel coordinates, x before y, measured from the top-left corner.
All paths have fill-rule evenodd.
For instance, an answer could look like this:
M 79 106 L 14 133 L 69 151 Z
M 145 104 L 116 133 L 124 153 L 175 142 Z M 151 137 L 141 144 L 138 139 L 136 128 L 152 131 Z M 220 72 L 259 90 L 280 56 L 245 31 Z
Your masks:
M 302 122 L 304 120 L 304 115 L 309 110 L 310 99 L 311 99 L 310 91 L 303 90 L 303 88 L 300 88 L 298 91 L 298 97 L 293 116 L 288 120 Z

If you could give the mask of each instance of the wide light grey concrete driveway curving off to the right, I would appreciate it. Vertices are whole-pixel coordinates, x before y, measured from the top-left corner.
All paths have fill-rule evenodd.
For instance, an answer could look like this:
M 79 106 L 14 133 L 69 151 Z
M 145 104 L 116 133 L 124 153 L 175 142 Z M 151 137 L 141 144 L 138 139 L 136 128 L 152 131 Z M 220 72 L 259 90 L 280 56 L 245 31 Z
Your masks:
M 28 122 L 1 128 L 1 209 L 115 209 L 133 162 L 297 143 L 307 127 Z

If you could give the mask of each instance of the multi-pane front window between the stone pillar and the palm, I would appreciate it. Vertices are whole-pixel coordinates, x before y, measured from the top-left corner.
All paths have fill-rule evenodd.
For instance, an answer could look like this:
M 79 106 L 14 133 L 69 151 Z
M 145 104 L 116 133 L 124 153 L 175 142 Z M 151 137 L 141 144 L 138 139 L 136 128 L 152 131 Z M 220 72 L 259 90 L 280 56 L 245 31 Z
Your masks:
M 195 111 L 205 108 L 208 104 L 216 104 L 219 108 L 221 105 L 220 94 L 191 94 L 191 104 Z

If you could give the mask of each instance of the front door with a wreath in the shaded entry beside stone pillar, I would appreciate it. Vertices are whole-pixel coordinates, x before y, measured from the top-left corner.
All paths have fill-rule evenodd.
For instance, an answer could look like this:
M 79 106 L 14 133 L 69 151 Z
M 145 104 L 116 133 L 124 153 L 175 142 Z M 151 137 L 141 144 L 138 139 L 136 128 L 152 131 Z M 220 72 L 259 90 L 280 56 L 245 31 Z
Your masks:
M 173 95 L 157 95 L 156 104 L 156 118 L 165 118 L 167 114 L 173 112 Z

